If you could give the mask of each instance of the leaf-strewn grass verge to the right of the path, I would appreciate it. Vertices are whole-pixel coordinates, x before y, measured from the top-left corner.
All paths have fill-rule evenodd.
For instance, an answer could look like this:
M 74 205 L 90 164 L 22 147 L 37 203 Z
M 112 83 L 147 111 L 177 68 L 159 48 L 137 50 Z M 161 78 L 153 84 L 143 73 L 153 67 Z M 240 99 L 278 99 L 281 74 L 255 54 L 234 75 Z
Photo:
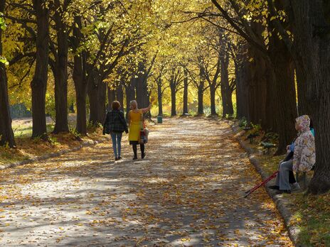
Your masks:
M 250 144 L 246 139 L 248 132 L 240 136 L 240 139 L 247 146 L 253 148 L 255 158 L 260 161 L 262 170 L 271 175 L 277 170 L 280 160 L 285 155 L 273 156 L 275 149 L 270 155 L 262 154 L 260 137 L 255 139 L 255 143 Z M 277 143 L 273 141 L 273 143 Z M 309 177 L 312 172 L 309 172 Z M 330 193 L 321 195 L 306 195 L 304 192 L 292 192 L 292 194 L 283 194 L 284 199 L 289 203 L 287 207 L 293 213 L 293 217 L 289 222 L 289 226 L 298 226 L 299 234 L 297 239 L 298 246 L 330 246 Z

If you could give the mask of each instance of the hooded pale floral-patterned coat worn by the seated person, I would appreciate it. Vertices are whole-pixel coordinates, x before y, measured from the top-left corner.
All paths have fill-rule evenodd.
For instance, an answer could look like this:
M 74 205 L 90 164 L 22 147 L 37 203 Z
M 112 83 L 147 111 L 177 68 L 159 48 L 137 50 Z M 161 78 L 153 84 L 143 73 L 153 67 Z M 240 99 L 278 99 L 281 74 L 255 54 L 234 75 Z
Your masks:
M 296 141 L 294 141 L 292 170 L 294 172 L 307 172 L 315 164 L 315 140 L 312 132 L 309 130 L 309 116 L 299 116 L 296 122 L 301 129 Z

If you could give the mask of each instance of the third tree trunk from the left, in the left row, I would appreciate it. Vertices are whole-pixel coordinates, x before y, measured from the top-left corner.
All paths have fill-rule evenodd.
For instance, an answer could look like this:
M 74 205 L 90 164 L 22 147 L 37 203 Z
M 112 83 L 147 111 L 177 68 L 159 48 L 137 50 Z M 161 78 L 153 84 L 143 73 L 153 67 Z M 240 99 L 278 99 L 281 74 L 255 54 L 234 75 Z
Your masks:
M 69 132 L 68 126 L 68 31 L 63 18 L 55 11 L 57 54 L 55 54 L 55 128 L 53 133 Z

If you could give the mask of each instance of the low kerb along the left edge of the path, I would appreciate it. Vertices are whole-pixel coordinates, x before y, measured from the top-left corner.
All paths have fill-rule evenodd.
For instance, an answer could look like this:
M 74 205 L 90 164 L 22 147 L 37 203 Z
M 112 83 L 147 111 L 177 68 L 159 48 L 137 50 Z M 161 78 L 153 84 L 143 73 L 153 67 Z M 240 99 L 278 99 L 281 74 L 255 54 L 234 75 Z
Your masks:
M 72 153 L 72 152 L 80 150 L 81 148 L 95 146 L 99 143 L 104 143 L 105 141 L 106 140 L 84 141 L 84 142 L 80 143 L 79 146 L 74 147 L 74 148 L 68 148 L 68 149 L 65 149 L 65 150 L 60 150 L 60 151 L 55 152 L 55 153 L 48 153 L 46 155 L 36 156 L 34 158 L 28 158 L 27 160 L 22 160 L 22 161 L 18 161 L 18 162 L 15 162 L 15 163 L 9 163 L 9 164 L 1 165 L 0 170 L 6 170 L 6 169 L 9 169 L 9 168 L 16 168 L 17 166 L 20 166 L 20 165 L 27 165 L 27 164 L 35 163 L 35 162 L 41 161 L 41 160 L 48 160 L 49 158 L 60 157 L 60 155 L 63 155 L 65 153 Z

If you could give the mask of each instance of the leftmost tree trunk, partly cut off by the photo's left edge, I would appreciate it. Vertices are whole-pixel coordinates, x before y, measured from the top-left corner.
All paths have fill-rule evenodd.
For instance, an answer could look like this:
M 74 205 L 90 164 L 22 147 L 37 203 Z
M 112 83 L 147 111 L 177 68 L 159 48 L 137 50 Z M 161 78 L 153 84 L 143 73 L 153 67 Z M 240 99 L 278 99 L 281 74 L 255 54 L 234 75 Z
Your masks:
M 4 13 L 5 0 L 0 1 L 0 12 Z M 2 30 L 0 28 L 0 54 L 2 52 Z M 14 148 L 14 132 L 11 128 L 11 114 L 9 111 L 8 84 L 6 67 L 0 62 L 0 146 Z

